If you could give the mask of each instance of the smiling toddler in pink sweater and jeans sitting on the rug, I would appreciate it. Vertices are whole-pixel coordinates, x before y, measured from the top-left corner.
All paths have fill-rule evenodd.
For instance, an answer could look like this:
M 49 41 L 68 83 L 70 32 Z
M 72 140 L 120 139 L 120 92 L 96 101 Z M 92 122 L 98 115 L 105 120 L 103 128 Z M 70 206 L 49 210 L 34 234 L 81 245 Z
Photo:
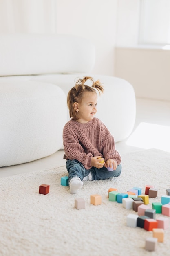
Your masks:
M 87 80 L 92 82 L 91 86 L 85 85 Z M 77 193 L 82 180 L 104 180 L 121 174 L 121 156 L 115 149 L 114 137 L 95 117 L 96 90 L 99 94 L 104 92 L 100 81 L 86 76 L 68 92 L 71 120 L 63 129 L 63 145 L 70 193 Z M 108 167 L 113 171 L 108 171 Z

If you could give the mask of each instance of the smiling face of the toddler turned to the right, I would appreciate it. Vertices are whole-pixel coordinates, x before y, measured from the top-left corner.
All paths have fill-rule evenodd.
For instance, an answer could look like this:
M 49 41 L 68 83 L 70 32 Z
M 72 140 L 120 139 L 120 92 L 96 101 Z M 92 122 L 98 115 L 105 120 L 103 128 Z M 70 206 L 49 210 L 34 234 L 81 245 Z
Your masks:
M 97 112 L 97 93 L 84 92 L 82 102 L 78 104 L 79 123 L 88 123 L 92 120 Z

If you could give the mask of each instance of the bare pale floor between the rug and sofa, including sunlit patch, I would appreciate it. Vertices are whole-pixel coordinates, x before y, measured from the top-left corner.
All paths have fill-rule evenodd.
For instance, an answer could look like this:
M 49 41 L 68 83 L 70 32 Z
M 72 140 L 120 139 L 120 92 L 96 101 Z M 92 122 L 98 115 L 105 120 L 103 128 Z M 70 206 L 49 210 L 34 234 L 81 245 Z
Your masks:
M 136 99 L 137 114 L 130 137 L 116 144 L 122 154 L 137 150 L 157 148 L 170 152 L 170 102 L 150 99 Z M 38 171 L 65 165 L 64 151 L 59 150 L 49 157 L 20 164 L 1 167 L 0 177 Z

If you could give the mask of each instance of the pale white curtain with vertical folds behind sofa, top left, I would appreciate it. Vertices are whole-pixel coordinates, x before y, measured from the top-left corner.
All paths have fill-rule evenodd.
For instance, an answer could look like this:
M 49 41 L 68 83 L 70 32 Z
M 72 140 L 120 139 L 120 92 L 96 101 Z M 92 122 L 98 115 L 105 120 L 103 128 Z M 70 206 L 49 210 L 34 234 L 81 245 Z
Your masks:
M 56 33 L 57 0 L 0 0 L 0 32 Z

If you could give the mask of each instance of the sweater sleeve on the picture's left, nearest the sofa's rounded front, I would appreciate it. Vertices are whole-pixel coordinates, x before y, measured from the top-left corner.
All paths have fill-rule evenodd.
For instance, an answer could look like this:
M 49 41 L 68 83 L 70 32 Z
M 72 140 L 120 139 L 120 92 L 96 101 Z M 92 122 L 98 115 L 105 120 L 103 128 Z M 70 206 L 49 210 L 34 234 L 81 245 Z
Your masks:
M 91 158 L 93 155 L 91 153 L 85 153 L 84 148 L 79 143 L 75 132 L 73 132 L 73 127 L 69 123 L 67 123 L 63 129 L 63 146 L 65 159 L 76 159 L 81 162 L 87 170 L 92 167 Z

